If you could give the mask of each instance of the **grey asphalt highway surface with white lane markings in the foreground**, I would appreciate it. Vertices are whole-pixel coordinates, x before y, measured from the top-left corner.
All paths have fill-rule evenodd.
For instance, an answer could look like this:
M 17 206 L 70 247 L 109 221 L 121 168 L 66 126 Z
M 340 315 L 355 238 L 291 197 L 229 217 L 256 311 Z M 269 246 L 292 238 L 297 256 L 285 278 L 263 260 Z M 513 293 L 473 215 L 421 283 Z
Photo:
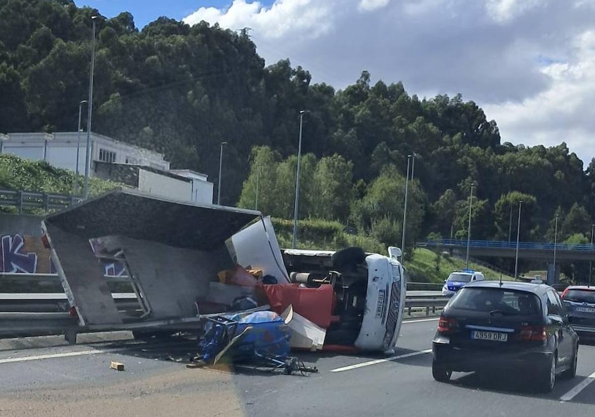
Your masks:
M 460 373 L 444 384 L 433 380 L 430 369 L 436 324 L 425 318 L 403 323 L 390 357 L 298 353 L 320 369 L 309 376 L 187 369 L 164 357 L 181 355 L 190 344 L 145 344 L 127 335 L 117 341 L 94 336 L 95 343 L 76 346 L 52 346 L 56 338 L 5 341 L 0 417 L 593 414 L 595 346 L 581 344 L 577 377 L 559 380 L 550 394 L 534 393 L 531 375 Z M 124 363 L 125 371 L 109 369 L 111 360 Z

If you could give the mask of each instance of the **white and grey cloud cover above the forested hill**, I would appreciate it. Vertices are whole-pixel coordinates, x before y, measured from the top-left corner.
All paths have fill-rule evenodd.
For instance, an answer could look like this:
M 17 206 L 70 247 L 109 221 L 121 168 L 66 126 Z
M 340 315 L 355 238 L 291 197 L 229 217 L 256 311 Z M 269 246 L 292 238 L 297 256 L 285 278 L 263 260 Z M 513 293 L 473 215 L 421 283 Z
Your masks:
M 234 0 L 184 19 L 250 27 L 267 64 L 290 58 L 343 88 L 362 70 L 411 94 L 461 92 L 502 141 L 595 154 L 595 0 Z

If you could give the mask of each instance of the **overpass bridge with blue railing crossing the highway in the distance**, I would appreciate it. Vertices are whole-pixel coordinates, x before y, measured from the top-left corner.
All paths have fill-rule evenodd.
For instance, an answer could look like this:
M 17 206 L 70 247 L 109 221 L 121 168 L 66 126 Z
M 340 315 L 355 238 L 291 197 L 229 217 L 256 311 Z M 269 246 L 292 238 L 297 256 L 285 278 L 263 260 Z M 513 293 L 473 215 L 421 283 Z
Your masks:
M 417 247 L 444 250 L 466 251 L 467 241 L 459 239 L 442 239 L 436 241 L 417 242 Z M 556 244 L 556 262 L 595 261 L 595 245 L 591 244 Z M 469 255 L 477 257 L 513 258 L 516 253 L 516 242 L 472 240 L 469 242 Z M 519 242 L 519 259 L 552 261 L 554 244 L 547 242 Z

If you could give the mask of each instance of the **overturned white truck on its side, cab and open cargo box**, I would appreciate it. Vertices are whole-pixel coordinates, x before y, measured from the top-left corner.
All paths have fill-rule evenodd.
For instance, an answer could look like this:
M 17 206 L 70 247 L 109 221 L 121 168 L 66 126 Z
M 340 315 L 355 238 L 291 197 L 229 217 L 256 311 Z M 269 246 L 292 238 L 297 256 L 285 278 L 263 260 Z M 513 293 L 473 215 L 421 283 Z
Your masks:
M 219 282 L 218 272 L 240 264 L 292 287 L 294 300 L 329 285 L 326 338 L 333 344 L 390 351 L 399 335 L 405 279 L 396 248 L 390 257 L 358 248 L 281 251 L 270 219 L 258 211 L 129 190 L 52 214 L 42 232 L 79 332 L 199 331 L 207 316 L 228 312 L 206 314 L 205 303 L 230 305 L 254 291 Z M 107 272 L 116 276 L 108 280 Z M 124 304 L 116 294 L 123 285 L 133 293 Z M 270 308 L 262 304 L 255 310 Z

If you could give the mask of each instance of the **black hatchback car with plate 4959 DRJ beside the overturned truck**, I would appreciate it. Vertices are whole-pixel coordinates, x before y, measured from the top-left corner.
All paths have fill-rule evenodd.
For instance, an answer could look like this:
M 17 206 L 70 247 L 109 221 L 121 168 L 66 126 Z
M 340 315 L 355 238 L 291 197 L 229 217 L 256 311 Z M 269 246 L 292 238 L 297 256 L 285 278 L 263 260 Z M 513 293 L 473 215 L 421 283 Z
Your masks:
M 525 282 L 478 281 L 444 307 L 433 340 L 432 375 L 453 371 L 518 372 L 549 392 L 556 375 L 577 372 L 578 335 L 552 287 Z

